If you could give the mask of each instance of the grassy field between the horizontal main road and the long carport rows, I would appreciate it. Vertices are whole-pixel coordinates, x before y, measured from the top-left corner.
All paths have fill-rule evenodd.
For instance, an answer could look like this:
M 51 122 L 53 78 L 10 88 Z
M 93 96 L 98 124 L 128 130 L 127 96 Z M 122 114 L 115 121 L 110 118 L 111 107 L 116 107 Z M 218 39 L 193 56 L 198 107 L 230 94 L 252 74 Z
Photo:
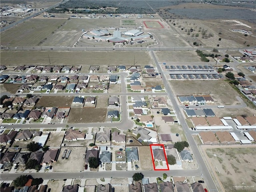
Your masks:
M 157 51 L 158 62 L 201 62 L 195 51 Z

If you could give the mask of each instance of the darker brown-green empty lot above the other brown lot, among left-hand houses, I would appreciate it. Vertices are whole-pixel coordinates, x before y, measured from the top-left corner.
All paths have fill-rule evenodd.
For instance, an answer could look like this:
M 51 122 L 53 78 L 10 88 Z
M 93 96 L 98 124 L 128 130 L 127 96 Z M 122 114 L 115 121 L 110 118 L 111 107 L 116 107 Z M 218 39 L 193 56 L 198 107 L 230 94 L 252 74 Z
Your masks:
M 70 107 L 74 97 L 69 96 L 42 96 L 36 106 L 42 107 Z

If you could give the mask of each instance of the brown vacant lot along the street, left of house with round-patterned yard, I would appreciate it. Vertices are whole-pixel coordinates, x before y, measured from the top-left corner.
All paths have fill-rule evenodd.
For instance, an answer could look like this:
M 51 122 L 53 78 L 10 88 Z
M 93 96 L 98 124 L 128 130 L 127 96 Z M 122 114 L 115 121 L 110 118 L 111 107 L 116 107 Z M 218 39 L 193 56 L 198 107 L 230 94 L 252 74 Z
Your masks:
M 68 123 L 105 122 L 106 113 L 106 108 L 71 108 L 68 116 Z

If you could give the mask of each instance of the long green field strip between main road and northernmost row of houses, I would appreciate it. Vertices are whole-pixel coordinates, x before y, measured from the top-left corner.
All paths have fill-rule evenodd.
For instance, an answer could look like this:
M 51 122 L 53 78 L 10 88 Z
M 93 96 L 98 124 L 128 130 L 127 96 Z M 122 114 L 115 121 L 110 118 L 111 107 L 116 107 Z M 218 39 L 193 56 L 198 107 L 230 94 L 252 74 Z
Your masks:
M 97 52 L 97 51 L 1 51 L 1 65 L 150 65 L 153 61 L 148 52 Z M 120 59 L 122 58 L 122 59 Z

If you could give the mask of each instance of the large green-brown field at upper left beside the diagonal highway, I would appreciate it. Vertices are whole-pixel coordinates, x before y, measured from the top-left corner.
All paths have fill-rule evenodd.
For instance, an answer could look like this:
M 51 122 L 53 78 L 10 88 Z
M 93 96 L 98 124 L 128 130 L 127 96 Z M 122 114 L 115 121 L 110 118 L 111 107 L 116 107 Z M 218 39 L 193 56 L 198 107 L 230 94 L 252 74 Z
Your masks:
M 66 19 L 33 18 L 1 33 L 1 45 L 37 46 L 48 38 Z

